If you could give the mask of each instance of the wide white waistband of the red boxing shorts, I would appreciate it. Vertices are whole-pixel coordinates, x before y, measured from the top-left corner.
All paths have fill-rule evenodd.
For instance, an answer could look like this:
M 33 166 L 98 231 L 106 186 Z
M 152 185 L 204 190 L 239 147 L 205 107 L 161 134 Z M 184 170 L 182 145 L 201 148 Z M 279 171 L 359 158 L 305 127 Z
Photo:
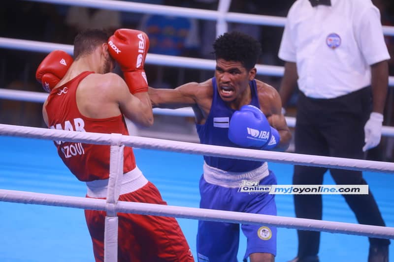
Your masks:
M 126 173 L 122 177 L 122 186 L 120 194 L 126 194 L 134 192 L 148 183 L 148 179 L 142 174 L 138 167 L 135 167 L 130 172 Z M 87 195 L 92 198 L 106 198 L 108 179 L 94 180 L 86 182 L 88 187 Z

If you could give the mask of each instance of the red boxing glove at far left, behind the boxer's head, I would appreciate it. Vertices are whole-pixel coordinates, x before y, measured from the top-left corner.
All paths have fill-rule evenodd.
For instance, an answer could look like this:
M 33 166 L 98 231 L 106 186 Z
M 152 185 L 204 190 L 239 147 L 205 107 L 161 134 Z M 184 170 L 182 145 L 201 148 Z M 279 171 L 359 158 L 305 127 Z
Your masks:
M 52 51 L 38 65 L 35 79 L 41 83 L 45 91 L 50 93 L 52 88 L 66 75 L 72 62 L 72 57 L 66 52 L 62 50 Z

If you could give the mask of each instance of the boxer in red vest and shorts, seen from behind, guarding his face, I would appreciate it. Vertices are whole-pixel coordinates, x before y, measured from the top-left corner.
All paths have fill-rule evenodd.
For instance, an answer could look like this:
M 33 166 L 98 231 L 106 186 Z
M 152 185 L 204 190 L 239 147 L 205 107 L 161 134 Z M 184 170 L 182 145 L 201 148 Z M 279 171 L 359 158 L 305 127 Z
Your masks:
M 80 132 L 129 135 L 125 117 L 137 124 L 153 124 L 153 113 L 143 70 L 149 39 L 138 30 L 118 29 L 114 35 L 87 30 L 74 39 L 74 61 L 43 106 L 48 127 Z M 37 79 L 61 75 L 58 56 L 45 59 Z M 126 82 L 111 73 L 115 60 Z M 56 82 L 56 81 L 55 81 Z M 55 141 L 58 154 L 78 180 L 88 187 L 87 197 L 105 198 L 109 177 L 110 146 Z M 158 189 L 135 163 L 131 147 L 124 151 L 124 175 L 119 200 L 166 204 Z M 97 262 L 103 261 L 104 211 L 85 210 Z M 174 218 L 118 213 L 118 261 L 194 261 L 188 243 Z

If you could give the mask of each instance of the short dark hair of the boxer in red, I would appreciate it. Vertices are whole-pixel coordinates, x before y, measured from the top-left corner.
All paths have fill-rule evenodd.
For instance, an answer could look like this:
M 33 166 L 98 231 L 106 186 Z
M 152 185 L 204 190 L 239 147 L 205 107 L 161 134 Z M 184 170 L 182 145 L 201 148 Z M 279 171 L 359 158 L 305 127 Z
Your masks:
M 79 32 L 74 38 L 74 59 L 89 55 L 98 45 L 106 43 L 110 33 L 101 29 L 87 29 Z

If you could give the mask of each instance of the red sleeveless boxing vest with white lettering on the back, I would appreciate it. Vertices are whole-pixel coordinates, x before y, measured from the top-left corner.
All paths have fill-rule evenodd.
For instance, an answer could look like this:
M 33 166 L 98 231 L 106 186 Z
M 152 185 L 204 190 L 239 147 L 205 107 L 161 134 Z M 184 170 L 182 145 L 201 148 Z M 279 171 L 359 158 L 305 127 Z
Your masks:
M 89 118 L 83 116 L 77 107 L 76 90 L 86 76 L 94 72 L 82 72 L 59 88 L 53 89 L 45 107 L 48 124 L 52 129 L 118 133 L 129 135 L 123 115 L 108 118 Z M 54 141 L 58 154 L 68 169 L 81 181 L 107 179 L 109 177 L 110 146 L 74 142 Z M 123 172 L 135 168 L 135 158 L 131 147 L 124 151 Z

